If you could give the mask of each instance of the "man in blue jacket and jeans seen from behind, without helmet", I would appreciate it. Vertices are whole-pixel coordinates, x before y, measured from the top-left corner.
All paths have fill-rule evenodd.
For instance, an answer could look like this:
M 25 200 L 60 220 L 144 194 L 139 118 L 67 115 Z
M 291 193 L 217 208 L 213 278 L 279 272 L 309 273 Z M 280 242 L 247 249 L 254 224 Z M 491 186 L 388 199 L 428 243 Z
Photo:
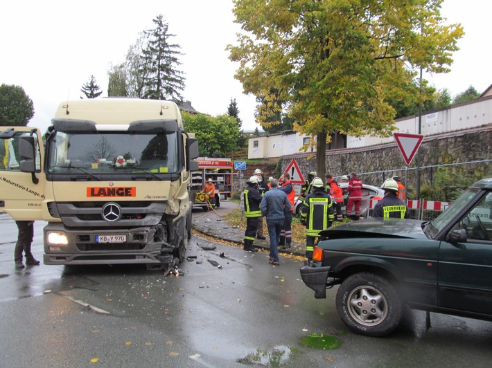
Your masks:
M 261 199 L 261 213 L 267 219 L 268 234 L 270 235 L 270 260 L 269 264 L 280 265 L 279 259 L 279 240 L 280 232 L 285 221 L 285 212 L 290 211 L 290 202 L 287 194 L 279 190 L 279 181 L 270 181 L 271 190 L 263 195 Z

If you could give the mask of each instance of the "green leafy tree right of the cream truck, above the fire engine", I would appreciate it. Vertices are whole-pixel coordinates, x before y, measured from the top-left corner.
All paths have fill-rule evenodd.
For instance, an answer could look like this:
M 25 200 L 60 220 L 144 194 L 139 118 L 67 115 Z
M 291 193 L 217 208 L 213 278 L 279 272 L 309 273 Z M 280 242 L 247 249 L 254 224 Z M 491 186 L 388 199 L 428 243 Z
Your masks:
M 201 156 L 212 156 L 215 151 L 235 151 L 240 131 L 236 119 L 220 115 L 212 117 L 203 113 L 196 115 L 182 111 L 186 131 L 198 139 Z

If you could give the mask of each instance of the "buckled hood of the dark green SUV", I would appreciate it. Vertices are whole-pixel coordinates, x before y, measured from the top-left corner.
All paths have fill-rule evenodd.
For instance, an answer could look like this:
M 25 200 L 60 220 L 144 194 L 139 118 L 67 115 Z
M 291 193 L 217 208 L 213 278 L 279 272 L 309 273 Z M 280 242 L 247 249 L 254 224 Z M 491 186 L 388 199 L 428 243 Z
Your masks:
M 364 219 L 351 221 L 320 232 L 328 239 L 343 238 L 411 238 L 428 239 L 423 232 L 424 221 L 409 219 Z

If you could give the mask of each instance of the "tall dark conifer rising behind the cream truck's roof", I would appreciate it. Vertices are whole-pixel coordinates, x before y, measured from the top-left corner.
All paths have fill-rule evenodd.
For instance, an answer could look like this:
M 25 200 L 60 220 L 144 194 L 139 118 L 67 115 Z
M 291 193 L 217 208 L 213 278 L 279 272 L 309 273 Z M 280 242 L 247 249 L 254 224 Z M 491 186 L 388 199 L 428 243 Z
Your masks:
M 143 80 L 144 98 L 155 100 L 182 101 L 179 91 L 184 89 L 184 73 L 177 70 L 179 62 L 177 56 L 183 55 L 177 44 L 170 44 L 171 35 L 168 33 L 168 24 L 162 20 L 162 15 L 152 19 L 155 28 L 145 30 L 146 46 L 142 49 L 143 63 L 139 69 Z

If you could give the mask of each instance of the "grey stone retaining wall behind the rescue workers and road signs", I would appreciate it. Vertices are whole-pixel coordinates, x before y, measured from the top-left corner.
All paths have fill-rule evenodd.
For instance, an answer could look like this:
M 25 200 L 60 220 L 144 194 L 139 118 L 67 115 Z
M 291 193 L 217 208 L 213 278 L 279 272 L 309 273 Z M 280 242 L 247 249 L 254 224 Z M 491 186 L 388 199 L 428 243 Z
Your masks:
M 491 159 L 492 125 L 453 131 L 424 137 L 419 149 L 421 157 L 421 185 L 430 184 L 436 168 L 431 165 L 465 163 L 475 160 Z M 295 158 L 303 175 L 316 170 L 315 153 L 302 153 L 284 156 L 282 167 L 287 167 Z M 407 169 L 407 186 L 416 183 L 416 157 Z M 490 163 L 453 166 L 460 175 L 473 176 L 476 180 L 491 175 Z M 364 183 L 381 185 L 384 178 L 398 175 L 405 178 L 405 161 L 396 142 L 360 147 L 354 149 L 333 149 L 326 151 L 326 173 L 342 176 L 357 172 Z

